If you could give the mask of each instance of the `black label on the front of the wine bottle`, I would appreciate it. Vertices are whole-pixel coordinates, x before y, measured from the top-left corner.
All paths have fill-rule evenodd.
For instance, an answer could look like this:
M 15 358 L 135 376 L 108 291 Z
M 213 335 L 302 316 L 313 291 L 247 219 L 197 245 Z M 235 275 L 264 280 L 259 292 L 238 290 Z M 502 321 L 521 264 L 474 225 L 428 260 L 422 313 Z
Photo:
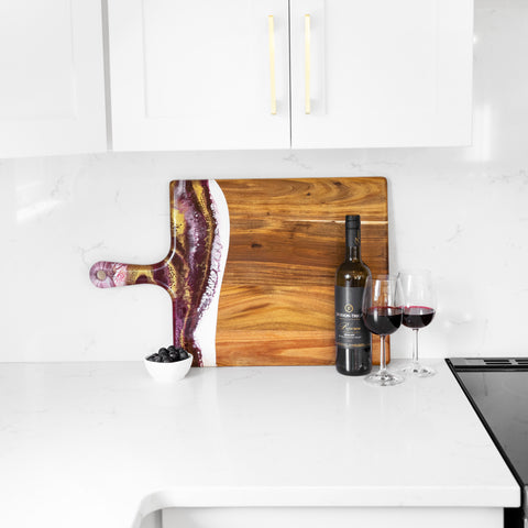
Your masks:
M 371 345 L 371 334 L 363 323 L 362 287 L 336 286 L 336 343 L 340 346 Z

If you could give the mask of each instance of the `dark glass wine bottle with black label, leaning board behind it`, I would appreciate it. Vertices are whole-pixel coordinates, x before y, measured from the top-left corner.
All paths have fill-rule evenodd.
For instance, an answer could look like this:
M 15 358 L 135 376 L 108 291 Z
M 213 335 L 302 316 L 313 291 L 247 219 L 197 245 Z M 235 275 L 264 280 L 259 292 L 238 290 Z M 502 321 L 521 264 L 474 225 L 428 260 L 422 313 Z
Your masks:
M 345 217 L 346 253 L 336 272 L 336 369 L 348 376 L 372 370 L 371 333 L 363 323 L 361 305 L 371 271 L 361 260 L 361 218 Z

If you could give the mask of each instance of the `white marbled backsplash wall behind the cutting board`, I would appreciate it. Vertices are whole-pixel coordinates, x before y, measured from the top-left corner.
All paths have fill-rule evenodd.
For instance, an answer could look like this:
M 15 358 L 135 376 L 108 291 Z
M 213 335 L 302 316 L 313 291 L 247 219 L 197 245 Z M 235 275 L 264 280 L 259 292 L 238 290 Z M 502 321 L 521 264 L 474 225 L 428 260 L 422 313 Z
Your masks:
M 170 342 L 165 292 L 88 279 L 98 260 L 165 256 L 170 179 L 370 175 L 389 183 L 392 270 L 438 278 L 422 355 L 528 355 L 528 1 L 475 3 L 472 147 L 0 161 L 0 361 L 138 360 Z

